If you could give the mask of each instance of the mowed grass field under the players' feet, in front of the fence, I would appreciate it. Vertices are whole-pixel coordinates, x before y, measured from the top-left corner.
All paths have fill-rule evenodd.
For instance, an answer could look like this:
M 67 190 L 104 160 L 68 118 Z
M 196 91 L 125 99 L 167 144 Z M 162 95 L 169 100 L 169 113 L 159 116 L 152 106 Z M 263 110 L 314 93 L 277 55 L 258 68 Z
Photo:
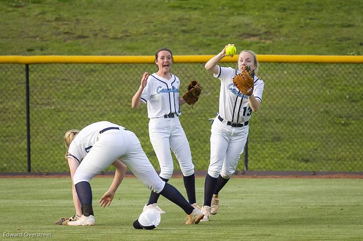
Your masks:
M 361 240 L 363 179 L 232 178 L 220 192 L 219 213 L 208 223 L 187 226 L 185 214 L 161 197 L 167 213 L 151 231 L 135 230 L 149 191 L 126 178 L 108 208 L 97 201 L 111 178 L 91 181 L 96 226 L 54 225 L 73 215 L 70 178 L 0 179 L 0 236 L 3 233 L 51 233 L 51 240 Z M 183 179 L 170 183 L 185 194 Z M 202 204 L 204 178 L 196 179 Z M 38 238 L 36 240 L 43 240 Z M 19 237 L 16 240 L 29 240 Z M 35 240 L 35 239 L 30 239 Z

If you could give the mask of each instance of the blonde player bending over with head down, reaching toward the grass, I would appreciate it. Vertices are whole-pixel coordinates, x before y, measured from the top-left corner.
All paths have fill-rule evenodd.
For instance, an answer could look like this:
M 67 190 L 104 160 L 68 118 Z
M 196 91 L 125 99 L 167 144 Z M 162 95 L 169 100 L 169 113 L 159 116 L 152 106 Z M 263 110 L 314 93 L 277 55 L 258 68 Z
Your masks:
M 187 213 L 186 224 L 197 224 L 203 218 L 199 209 L 190 205 L 178 190 L 159 178 L 133 132 L 111 122 L 100 121 L 81 131 L 67 131 L 65 141 L 73 189 L 76 190 L 73 200 L 76 210 L 77 206 L 82 208 L 81 218 L 68 222 L 68 225 L 95 224 L 89 181 L 111 164 L 116 172 L 109 190 L 99 200 L 101 206 L 111 204 L 125 176 L 126 164 L 146 187 L 182 208 Z

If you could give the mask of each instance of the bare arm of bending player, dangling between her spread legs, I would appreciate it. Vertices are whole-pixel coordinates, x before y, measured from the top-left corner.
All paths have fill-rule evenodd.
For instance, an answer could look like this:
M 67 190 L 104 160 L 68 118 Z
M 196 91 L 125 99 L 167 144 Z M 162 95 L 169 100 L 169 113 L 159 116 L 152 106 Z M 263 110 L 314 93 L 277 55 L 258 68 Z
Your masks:
M 119 159 L 116 159 L 112 165 L 116 168 L 115 171 L 115 176 L 113 178 L 112 184 L 110 186 L 110 188 L 108 189 L 108 191 L 103 194 L 103 196 L 101 197 L 101 199 L 99 200 L 99 204 L 102 207 L 108 207 L 114 197 L 114 194 L 117 190 L 117 188 L 119 187 L 119 185 L 121 184 L 122 180 L 125 177 L 126 171 L 127 171 L 127 167 L 125 164 L 123 164 Z

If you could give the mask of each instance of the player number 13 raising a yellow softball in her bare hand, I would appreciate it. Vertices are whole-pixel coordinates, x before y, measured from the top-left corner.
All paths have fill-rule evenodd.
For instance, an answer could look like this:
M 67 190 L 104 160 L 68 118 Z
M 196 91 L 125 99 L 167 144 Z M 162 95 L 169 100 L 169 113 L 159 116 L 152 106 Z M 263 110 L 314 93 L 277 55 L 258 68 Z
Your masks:
M 225 49 L 211 58 L 205 68 L 221 82 L 219 92 L 219 114 L 211 128 L 210 164 L 204 184 L 204 205 L 202 221 L 209 221 L 210 214 L 217 214 L 218 193 L 235 172 L 239 157 L 244 150 L 249 133 L 252 112 L 260 108 L 264 82 L 255 73 L 258 70 L 256 54 L 243 50 L 238 56 L 238 69 L 220 67 L 217 63 L 227 56 Z M 244 65 L 254 74 L 254 91 L 251 96 L 241 94 L 233 85 L 232 79 Z

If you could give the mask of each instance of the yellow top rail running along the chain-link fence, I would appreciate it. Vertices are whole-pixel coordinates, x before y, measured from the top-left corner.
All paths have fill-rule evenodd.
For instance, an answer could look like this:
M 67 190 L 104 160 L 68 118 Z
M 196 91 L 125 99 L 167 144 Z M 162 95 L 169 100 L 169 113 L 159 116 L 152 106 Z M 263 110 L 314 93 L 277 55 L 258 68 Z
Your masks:
M 175 63 L 205 63 L 214 55 L 175 55 Z M 274 63 L 363 63 L 363 56 L 347 55 L 270 55 L 258 54 L 259 62 Z M 237 62 L 238 55 L 224 57 L 220 62 Z M 0 56 L 0 63 L 154 63 L 154 56 Z

